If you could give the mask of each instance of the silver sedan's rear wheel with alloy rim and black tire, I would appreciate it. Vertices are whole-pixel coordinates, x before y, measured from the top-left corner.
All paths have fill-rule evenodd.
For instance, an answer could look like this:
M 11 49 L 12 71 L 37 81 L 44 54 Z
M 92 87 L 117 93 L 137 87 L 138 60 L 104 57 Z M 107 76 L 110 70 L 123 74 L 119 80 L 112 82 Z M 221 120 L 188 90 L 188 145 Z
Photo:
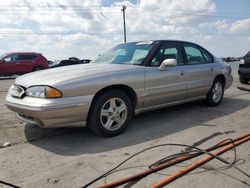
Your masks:
M 208 106 L 218 106 L 220 105 L 224 95 L 224 83 L 221 78 L 215 78 L 214 83 L 207 94 L 205 100 Z

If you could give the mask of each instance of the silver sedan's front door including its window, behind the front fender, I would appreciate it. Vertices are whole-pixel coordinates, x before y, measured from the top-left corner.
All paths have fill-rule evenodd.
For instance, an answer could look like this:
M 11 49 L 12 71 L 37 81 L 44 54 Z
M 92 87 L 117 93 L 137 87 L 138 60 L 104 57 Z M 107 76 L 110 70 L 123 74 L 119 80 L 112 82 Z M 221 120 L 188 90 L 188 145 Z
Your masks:
M 176 67 L 160 71 L 159 66 L 165 59 L 176 59 Z M 161 106 L 182 101 L 186 98 L 187 82 L 184 60 L 178 42 L 165 42 L 159 47 L 145 74 L 144 106 Z

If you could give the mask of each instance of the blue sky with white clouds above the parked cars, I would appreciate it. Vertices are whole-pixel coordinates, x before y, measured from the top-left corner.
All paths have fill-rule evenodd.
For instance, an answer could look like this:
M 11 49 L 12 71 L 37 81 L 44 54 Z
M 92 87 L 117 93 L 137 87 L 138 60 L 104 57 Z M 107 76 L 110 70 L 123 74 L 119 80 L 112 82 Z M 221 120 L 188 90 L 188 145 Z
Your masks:
M 95 59 L 127 42 L 195 42 L 218 57 L 250 50 L 250 0 L 0 1 L 0 54 L 35 51 L 49 60 Z

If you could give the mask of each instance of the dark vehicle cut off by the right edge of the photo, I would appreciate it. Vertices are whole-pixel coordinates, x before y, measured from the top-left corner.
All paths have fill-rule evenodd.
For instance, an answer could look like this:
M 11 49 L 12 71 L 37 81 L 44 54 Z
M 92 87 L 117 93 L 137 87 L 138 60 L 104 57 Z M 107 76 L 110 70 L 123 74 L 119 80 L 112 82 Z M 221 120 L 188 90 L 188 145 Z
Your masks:
M 240 83 L 248 84 L 250 80 L 250 51 L 242 57 L 238 73 Z

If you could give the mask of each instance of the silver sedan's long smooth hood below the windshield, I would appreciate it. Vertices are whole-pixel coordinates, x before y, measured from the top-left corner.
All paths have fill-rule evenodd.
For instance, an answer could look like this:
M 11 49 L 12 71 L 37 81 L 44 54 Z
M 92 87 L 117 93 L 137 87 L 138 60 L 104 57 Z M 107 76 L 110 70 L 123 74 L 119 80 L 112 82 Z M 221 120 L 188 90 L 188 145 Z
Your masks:
M 85 80 L 96 77 L 117 75 L 121 72 L 131 72 L 141 69 L 142 66 L 118 64 L 81 64 L 46 69 L 25 74 L 16 79 L 15 84 L 30 87 L 34 85 L 55 86 L 72 80 Z

